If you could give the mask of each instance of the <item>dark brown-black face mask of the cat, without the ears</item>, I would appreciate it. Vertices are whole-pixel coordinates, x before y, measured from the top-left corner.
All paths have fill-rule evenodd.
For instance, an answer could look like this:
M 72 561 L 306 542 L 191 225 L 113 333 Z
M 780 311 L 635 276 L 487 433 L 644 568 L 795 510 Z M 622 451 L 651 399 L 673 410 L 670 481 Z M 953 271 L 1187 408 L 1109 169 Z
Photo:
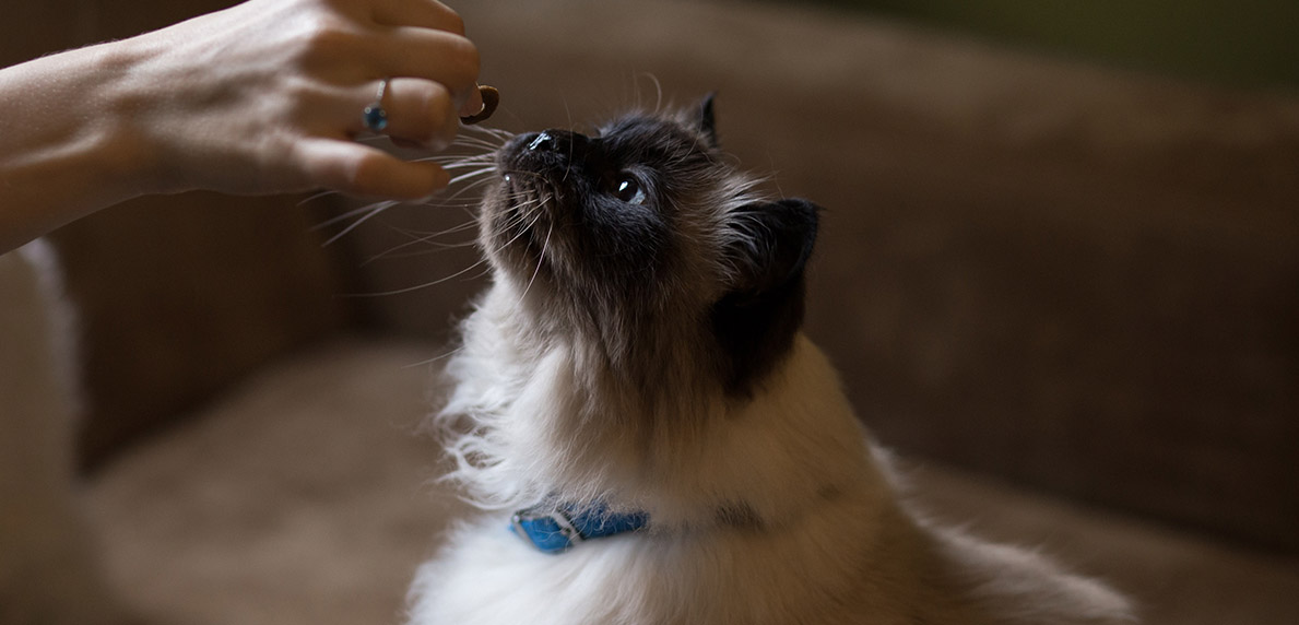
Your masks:
M 714 172 L 712 159 L 699 135 L 650 117 L 592 135 L 518 135 L 498 156 L 511 207 L 501 217 L 513 221 L 499 225 L 514 227 L 503 227 L 496 242 L 526 243 L 526 268 L 574 295 L 608 291 L 651 304 L 665 296 L 662 281 L 682 252 L 677 235 L 688 227 L 681 207 L 704 191 L 694 181 Z

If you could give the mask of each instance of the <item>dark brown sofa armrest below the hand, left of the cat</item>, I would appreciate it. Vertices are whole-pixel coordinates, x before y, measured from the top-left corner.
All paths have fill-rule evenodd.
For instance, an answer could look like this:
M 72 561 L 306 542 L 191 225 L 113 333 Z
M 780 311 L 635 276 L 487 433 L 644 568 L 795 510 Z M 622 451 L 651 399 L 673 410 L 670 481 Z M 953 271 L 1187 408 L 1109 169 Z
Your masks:
M 297 201 L 145 198 L 51 236 L 81 320 L 86 464 L 342 326 L 335 268 Z

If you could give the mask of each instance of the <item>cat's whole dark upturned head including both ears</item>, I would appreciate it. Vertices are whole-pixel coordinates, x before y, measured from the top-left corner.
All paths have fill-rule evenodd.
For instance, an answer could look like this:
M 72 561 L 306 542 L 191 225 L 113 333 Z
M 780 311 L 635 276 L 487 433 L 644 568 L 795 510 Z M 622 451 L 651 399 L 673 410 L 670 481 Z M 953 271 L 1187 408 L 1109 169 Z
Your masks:
M 763 199 L 717 149 L 711 100 L 591 135 L 518 135 L 496 161 L 482 243 L 526 291 L 529 321 L 633 377 L 683 360 L 730 392 L 787 350 L 816 210 Z

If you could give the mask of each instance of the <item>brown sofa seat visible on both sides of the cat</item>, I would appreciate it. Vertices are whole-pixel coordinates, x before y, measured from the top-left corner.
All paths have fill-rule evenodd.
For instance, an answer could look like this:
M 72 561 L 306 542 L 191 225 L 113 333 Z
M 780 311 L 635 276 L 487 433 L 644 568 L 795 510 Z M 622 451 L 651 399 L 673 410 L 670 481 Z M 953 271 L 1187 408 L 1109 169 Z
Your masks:
M 262 370 L 104 470 L 90 489 L 126 599 L 169 625 L 400 622 L 414 567 L 470 513 L 430 482 L 439 451 L 422 343 L 340 343 Z M 913 463 L 907 463 L 913 464 Z M 908 469 L 934 515 L 1108 578 L 1148 625 L 1289 625 L 1299 563 Z M 501 531 L 505 531 L 504 528 Z

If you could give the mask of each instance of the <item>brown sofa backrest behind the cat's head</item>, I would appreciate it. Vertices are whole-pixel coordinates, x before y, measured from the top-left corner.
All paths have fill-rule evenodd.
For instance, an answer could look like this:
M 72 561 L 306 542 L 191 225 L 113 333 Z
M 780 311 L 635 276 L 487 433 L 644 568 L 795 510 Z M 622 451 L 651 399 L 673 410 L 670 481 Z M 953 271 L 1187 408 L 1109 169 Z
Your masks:
M 724 147 L 827 209 L 809 331 L 885 442 L 1299 550 L 1299 97 L 760 3 L 459 9 L 511 130 L 653 107 L 648 75 L 665 101 L 718 91 Z M 361 256 L 410 239 L 383 220 Z M 382 291 L 472 261 L 362 272 Z M 370 303 L 439 335 L 459 279 Z

